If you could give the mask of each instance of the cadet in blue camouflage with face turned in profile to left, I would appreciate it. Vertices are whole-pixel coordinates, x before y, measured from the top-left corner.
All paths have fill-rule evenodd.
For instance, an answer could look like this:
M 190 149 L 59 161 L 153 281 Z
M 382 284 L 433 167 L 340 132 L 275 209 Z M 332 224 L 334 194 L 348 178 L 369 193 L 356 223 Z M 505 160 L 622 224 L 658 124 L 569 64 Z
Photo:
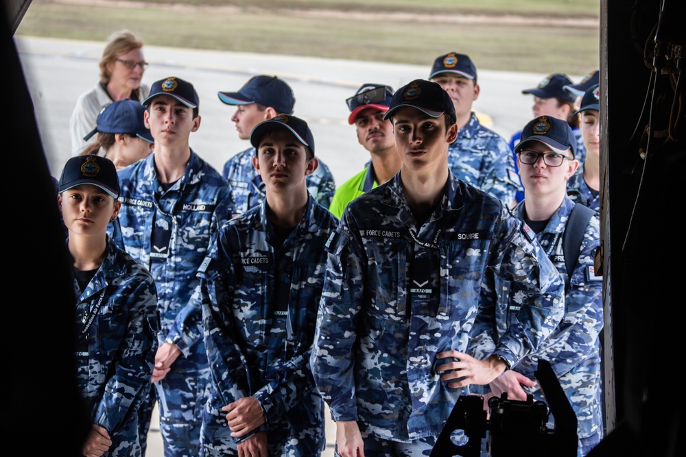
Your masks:
M 292 114 L 295 98 L 293 91 L 283 79 L 276 76 L 257 75 L 238 92 L 217 92 L 219 99 L 227 105 L 235 105 L 236 112 L 231 120 L 236 123 L 238 136 L 248 140 L 255 125 L 276 116 Z M 259 205 L 265 196 L 265 184 L 252 166 L 255 147 L 237 153 L 224 164 L 224 176 L 233 188 L 237 214 L 243 214 Z M 307 190 L 324 206 L 329 208 L 335 183 L 329 167 L 319 160 L 319 166 L 307 176 Z

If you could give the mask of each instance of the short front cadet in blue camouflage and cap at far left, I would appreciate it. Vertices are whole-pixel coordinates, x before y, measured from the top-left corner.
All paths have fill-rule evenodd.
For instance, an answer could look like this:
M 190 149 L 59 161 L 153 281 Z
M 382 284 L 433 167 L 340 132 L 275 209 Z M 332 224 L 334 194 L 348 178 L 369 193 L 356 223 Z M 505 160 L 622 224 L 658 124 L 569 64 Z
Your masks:
M 69 159 L 58 192 L 73 259 L 76 379 L 93 421 L 82 454 L 138 457 L 138 409 L 150 391 L 157 349 L 155 283 L 108 238 L 121 206 L 113 162 Z

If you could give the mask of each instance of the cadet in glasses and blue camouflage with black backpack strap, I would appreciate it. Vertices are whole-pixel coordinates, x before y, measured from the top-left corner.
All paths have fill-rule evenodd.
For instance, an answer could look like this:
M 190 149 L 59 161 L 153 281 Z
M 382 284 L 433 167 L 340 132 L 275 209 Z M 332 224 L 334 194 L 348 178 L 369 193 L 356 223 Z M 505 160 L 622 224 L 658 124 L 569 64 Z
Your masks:
M 512 371 L 490 383 L 490 395 L 499 397 L 508 392 L 510 399 L 526 399 L 521 387 L 502 386 L 508 378 L 521 383 L 534 400 L 545 402 L 534 382 L 534 372 L 541 359 L 548 360 L 565 391 L 578 421 L 578 456 L 582 457 L 597 445 L 603 436 L 600 372 L 600 339 L 603 327 L 602 277 L 593 269 L 593 256 L 600 245 L 600 219 L 591 217 L 584 227 L 578 262 L 567 271 L 563 251 L 565 227 L 573 201 L 567 197 L 567 180 L 578 167 L 573 159 L 576 138 L 567 123 L 548 116 L 539 116 L 523 129 L 517 145 L 519 173 L 526 198 L 514 209 L 517 217 L 536 232 L 545 253 L 565 278 L 569 286 L 565 293 L 565 317 L 555 332 L 538 350 L 521 359 Z M 521 295 L 500 278 L 490 278 L 482 294 L 482 311 L 473 328 L 470 353 L 476 358 L 490 354 L 497 341 L 506 335 L 508 326 L 521 319 Z M 495 334 L 493 323 L 495 322 Z M 515 385 L 517 385 L 515 384 Z M 552 425 L 552 420 L 549 425 Z

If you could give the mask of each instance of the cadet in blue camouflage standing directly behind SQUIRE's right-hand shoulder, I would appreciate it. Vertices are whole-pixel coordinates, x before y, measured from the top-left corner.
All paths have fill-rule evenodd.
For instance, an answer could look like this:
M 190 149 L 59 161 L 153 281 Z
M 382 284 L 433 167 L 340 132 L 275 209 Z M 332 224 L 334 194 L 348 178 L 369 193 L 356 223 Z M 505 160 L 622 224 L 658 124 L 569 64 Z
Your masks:
M 481 125 L 472 111 L 481 88 L 469 55 L 451 52 L 438 56 L 429 79 L 448 92 L 458 118 L 458 138 L 448 147 L 451 171 L 458 179 L 513 206 L 521 183 L 512 151 L 505 138 Z

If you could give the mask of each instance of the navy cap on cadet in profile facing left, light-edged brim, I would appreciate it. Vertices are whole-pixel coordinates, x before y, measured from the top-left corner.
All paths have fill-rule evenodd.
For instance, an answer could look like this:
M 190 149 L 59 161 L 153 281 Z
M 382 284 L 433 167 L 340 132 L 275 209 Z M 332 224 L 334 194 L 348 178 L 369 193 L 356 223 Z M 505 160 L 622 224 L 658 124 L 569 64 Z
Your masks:
M 284 114 L 292 114 L 296 103 L 291 87 L 278 76 L 268 75 L 253 76 L 238 92 L 217 92 L 217 96 L 227 105 L 259 103 Z

